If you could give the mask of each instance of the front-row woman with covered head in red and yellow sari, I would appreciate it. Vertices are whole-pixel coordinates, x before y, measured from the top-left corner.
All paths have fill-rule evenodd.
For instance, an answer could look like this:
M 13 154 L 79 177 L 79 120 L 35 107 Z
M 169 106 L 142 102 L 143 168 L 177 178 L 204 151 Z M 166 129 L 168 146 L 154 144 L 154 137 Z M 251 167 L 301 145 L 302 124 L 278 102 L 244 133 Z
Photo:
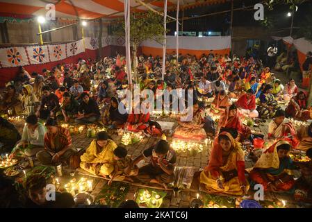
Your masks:
M 230 133 L 222 132 L 213 145 L 208 167 L 200 174 L 199 182 L 209 193 L 247 194 L 244 151 Z

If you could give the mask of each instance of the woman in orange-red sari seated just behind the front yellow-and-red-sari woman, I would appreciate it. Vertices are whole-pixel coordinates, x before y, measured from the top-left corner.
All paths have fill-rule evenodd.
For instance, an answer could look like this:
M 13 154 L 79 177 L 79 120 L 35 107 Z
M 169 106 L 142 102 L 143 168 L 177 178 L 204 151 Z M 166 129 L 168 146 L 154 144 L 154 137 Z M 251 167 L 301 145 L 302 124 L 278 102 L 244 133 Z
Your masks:
M 238 137 L 236 138 L 237 141 L 240 141 L 240 139 L 243 138 L 249 138 L 252 133 L 250 128 L 243 125 L 242 121 L 240 121 L 236 105 L 231 105 L 229 108 L 227 108 L 224 114 L 222 114 L 220 121 L 217 124 L 217 134 L 222 128 L 236 129 L 239 133 Z

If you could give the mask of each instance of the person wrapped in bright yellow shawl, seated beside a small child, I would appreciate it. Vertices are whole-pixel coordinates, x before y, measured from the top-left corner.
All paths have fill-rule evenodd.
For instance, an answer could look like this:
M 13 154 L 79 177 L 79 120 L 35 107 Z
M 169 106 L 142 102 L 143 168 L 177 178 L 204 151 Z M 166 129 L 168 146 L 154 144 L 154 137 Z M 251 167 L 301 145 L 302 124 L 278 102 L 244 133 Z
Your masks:
M 101 175 L 106 178 L 114 171 L 114 153 L 117 145 L 108 139 L 106 132 L 97 133 L 85 153 L 80 157 L 80 167 L 89 173 Z

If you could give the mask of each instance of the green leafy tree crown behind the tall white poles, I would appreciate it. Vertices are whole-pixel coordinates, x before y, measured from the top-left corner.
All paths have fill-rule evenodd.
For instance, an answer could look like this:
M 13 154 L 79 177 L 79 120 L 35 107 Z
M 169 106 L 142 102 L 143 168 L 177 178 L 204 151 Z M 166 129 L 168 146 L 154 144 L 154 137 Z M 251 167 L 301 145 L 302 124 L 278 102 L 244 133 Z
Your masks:
M 167 30 L 168 32 L 169 30 Z M 113 27 L 114 35 L 124 35 L 125 23 Z M 145 40 L 163 43 L 163 17 L 155 12 L 135 12 L 130 15 L 130 42 L 139 46 Z

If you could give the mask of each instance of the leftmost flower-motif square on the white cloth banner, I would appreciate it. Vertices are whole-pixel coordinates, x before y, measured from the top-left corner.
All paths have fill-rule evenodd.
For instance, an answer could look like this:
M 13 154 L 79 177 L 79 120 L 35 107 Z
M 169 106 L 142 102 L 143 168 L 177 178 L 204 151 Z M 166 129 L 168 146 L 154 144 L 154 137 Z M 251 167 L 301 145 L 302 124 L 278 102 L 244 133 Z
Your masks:
M 0 49 L 0 68 L 29 65 L 26 47 Z

